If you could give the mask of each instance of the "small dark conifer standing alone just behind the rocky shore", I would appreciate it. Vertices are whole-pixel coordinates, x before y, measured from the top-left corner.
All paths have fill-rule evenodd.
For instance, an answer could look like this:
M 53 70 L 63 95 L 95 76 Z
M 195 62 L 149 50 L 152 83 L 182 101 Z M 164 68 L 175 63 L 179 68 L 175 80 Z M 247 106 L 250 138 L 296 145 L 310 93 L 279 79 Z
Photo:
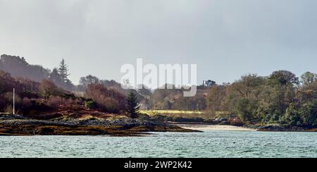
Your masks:
M 139 101 L 137 100 L 137 94 L 133 91 L 131 91 L 127 97 L 126 110 L 130 118 L 137 118 L 137 116 L 139 116 Z

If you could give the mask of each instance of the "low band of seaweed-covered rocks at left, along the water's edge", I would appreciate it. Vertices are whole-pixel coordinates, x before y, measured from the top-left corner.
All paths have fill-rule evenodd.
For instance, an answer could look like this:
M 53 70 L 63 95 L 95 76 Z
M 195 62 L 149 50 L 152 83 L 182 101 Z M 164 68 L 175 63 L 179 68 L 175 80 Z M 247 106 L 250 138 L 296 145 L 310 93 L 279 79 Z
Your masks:
M 137 125 L 125 127 L 120 125 L 0 125 L 1 136 L 33 136 L 33 135 L 110 135 L 110 136 L 142 136 L 149 132 L 192 133 L 199 130 L 180 128 L 176 125 Z

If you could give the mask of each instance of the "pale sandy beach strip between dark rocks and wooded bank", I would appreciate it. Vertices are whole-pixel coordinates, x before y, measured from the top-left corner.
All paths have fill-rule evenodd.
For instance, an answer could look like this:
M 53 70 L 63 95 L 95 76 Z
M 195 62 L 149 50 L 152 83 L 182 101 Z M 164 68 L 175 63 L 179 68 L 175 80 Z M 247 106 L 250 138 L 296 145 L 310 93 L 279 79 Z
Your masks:
M 251 128 L 237 127 L 233 125 L 192 125 L 192 124 L 179 124 L 181 128 L 190 130 L 201 130 L 201 131 L 256 131 Z

